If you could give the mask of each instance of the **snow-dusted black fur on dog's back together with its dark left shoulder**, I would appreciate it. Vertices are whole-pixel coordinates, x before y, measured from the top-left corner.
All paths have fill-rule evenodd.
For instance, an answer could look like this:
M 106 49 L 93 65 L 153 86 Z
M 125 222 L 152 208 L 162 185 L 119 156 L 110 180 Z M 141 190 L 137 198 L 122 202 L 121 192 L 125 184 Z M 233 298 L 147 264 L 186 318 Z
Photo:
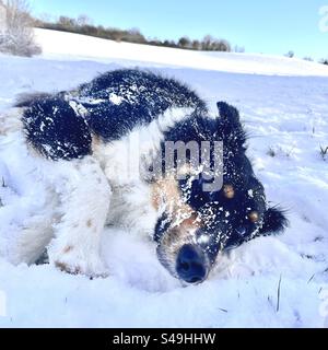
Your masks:
M 110 101 L 113 95 L 119 96 L 119 104 Z M 206 112 L 206 104 L 185 85 L 139 70 L 110 71 L 74 92 L 27 97 L 16 105 L 26 107 L 27 140 L 51 160 L 83 158 L 91 152 L 92 132 L 105 141 L 118 140 L 167 108 Z

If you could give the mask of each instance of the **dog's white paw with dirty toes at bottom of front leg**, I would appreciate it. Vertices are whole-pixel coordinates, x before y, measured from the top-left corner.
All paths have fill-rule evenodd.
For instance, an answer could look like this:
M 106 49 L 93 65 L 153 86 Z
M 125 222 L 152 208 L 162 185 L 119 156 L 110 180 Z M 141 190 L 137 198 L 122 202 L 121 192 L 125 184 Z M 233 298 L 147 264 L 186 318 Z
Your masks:
M 90 278 L 106 278 L 109 272 L 99 257 L 83 257 L 74 254 L 61 254 L 52 259 L 61 271 L 72 275 L 84 275 Z

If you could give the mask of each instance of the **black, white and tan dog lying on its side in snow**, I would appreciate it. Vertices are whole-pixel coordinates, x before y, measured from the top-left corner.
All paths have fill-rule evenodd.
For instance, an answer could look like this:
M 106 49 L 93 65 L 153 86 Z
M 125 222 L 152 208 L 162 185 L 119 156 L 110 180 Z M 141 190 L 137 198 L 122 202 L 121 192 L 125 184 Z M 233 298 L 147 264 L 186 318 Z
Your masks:
M 151 237 L 174 277 L 197 283 L 219 252 L 286 225 L 245 154 L 238 112 L 220 102 L 211 117 L 175 80 L 110 71 L 17 107 L 31 156 L 65 170 L 60 188 L 49 177 L 48 217 L 36 213 L 14 247 L 20 261 L 35 262 L 47 247 L 58 268 L 104 276 L 104 226 L 121 225 Z

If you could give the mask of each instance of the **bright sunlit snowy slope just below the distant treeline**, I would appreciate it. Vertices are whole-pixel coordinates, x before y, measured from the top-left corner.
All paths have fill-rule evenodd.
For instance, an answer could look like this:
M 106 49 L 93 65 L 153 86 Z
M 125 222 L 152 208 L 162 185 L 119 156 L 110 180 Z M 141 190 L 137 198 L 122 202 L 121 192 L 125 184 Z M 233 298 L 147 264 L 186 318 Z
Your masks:
M 119 65 L 165 66 L 234 73 L 321 75 L 328 67 L 288 57 L 191 51 L 149 45 L 116 43 L 91 36 L 36 30 L 37 42 L 47 57 L 72 60 L 96 60 Z

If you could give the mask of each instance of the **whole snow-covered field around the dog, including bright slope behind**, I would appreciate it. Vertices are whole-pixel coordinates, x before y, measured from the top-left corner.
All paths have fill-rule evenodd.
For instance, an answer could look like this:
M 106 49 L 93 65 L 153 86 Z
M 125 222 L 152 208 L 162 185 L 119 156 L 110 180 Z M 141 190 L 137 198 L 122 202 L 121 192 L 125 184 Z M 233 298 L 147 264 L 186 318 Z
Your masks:
M 328 147 L 327 67 L 40 30 L 37 38 L 40 57 L 0 56 L 0 116 L 20 93 L 71 89 L 119 67 L 173 75 L 211 106 L 223 100 L 239 108 L 255 171 L 267 197 L 289 209 L 291 226 L 220 257 L 209 280 L 187 288 L 161 267 L 153 243 L 118 230 L 107 230 L 103 244 L 107 279 L 1 259 L 0 327 L 328 326 L 328 154 L 320 155 Z M 5 124 L 0 117 L 0 175 L 9 186 L 0 184 L 0 244 L 44 196 L 22 137 L 5 133 Z

